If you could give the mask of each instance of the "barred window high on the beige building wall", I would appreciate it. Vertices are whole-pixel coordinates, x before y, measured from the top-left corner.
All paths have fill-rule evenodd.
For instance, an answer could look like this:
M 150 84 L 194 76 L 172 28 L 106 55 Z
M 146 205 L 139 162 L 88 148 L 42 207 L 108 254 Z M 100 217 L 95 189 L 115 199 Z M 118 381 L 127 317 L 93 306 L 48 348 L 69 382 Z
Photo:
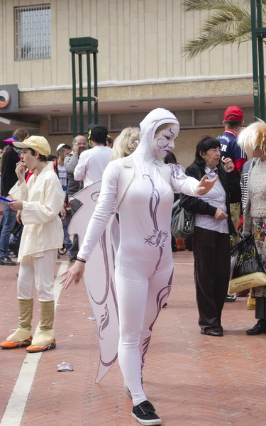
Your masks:
M 14 8 L 15 59 L 33 60 L 51 57 L 51 6 Z

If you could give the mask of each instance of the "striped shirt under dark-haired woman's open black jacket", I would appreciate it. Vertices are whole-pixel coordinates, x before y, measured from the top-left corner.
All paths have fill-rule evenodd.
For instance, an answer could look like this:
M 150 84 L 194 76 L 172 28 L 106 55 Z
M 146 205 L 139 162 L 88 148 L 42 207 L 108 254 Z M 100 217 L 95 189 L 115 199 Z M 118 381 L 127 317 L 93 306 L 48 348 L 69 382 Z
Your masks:
M 214 179 L 216 176 L 217 168 L 211 170 L 205 168 L 205 173 L 208 179 Z M 199 197 L 201 200 L 208 202 L 211 206 L 217 207 L 217 209 L 223 210 L 227 214 L 226 209 L 226 191 L 223 189 L 220 179 L 216 180 L 214 187 L 205 194 Z M 229 234 L 228 219 L 216 220 L 209 214 L 196 214 L 195 226 L 199 228 L 209 229 L 209 231 L 216 231 L 220 234 Z

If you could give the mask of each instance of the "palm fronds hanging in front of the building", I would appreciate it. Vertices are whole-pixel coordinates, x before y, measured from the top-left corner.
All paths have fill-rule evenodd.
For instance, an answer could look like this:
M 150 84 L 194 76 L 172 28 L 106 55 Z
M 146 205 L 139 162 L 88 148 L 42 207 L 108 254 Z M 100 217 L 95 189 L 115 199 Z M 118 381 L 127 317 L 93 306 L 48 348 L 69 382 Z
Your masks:
M 184 11 L 211 11 L 197 38 L 189 40 L 183 52 L 189 59 L 217 45 L 251 40 L 250 0 L 183 0 Z M 266 12 L 266 0 L 262 0 Z M 263 14 L 264 14 L 263 13 Z M 266 21 L 263 21 L 266 26 Z

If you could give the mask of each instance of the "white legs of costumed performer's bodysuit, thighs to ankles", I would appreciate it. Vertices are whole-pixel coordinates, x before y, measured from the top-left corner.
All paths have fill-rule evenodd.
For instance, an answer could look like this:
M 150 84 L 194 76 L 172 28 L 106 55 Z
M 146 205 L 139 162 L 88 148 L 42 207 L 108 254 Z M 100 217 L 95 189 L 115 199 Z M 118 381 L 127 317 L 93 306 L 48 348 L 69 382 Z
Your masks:
M 133 405 L 147 400 L 141 384 L 141 368 L 150 343 L 153 324 L 166 302 L 173 270 L 147 280 L 128 280 L 116 273 L 116 293 L 120 322 L 118 361 L 131 391 Z

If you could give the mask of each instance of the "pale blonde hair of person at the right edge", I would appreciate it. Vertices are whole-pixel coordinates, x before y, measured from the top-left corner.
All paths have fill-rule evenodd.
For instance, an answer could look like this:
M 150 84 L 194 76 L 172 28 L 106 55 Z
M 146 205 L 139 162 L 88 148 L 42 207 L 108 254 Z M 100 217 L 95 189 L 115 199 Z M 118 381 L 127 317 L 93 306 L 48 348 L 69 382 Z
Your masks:
M 255 121 L 241 130 L 238 135 L 238 145 L 245 151 L 248 158 L 254 157 L 256 149 L 266 155 L 266 123 L 262 120 Z

